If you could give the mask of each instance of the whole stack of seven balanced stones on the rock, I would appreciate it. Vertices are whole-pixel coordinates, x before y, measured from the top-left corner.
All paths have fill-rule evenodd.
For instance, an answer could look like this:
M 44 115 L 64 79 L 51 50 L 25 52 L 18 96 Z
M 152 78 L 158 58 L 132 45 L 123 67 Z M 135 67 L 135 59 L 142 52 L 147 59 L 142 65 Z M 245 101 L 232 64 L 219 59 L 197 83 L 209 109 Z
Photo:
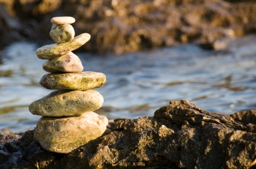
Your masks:
M 50 36 L 57 44 L 36 50 L 40 59 L 48 59 L 43 70 L 49 72 L 40 80 L 46 89 L 57 89 L 34 101 L 29 110 L 43 116 L 37 122 L 34 138 L 41 146 L 57 153 L 69 153 L 77 147 L 95 140 L 107 129 L 108 119 L 93 111 L 103 104 L 102 95 L 91 90 L 101 87 L 106 80 L 102 73 L 82 72 L 83 65 L 72 50 L 85 44 L 89 34 L 75 36 L 70 25 L 73 17 L 51 19 Z

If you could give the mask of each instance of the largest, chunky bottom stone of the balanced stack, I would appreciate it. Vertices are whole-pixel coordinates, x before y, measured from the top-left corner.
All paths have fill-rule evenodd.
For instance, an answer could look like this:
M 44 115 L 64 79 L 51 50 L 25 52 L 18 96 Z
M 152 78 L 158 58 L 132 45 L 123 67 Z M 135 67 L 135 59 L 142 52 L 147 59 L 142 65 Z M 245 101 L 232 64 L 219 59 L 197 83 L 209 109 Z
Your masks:
M 70 153 L 100 137 L 107 125 L 108 119 L 94 112 L 78 117 L 41 117 L 34 138 L 49 152 Z

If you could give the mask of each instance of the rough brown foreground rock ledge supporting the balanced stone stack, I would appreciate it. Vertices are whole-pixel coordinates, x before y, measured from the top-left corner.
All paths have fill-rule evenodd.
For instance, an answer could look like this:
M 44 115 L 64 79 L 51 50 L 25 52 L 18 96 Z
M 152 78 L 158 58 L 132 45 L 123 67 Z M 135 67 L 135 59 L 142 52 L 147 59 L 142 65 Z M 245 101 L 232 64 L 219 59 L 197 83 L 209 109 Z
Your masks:
M 27 131 L 1 140 L 0 168 L 255 168 L 255 114 L 171 101 L 154 117 L 109 123 L 102 137 L 67 155 L 47 152 Z

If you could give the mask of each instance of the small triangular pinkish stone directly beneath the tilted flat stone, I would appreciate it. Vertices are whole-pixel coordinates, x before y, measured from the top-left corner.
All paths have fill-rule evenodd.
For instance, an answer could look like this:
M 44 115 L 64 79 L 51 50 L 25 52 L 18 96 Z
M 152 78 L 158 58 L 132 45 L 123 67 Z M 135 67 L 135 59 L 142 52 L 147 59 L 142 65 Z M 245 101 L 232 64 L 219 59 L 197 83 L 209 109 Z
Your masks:
M 82 62 L 74 53 L 69 52 L 58 58 L 46 61 L 43 64 L 43 70 L 53 72 L 66 72 L 66 73 L 78 73 L 83 71 L 84 67 Z

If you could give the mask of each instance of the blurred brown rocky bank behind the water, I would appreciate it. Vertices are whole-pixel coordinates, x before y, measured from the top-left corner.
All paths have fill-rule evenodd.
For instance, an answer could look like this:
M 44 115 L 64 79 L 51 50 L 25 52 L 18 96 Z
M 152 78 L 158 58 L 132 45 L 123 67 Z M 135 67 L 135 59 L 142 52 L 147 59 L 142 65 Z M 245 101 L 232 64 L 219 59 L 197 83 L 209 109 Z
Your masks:
M 16 41 L 51 44 L 51 18 L 72 16 L 76 35 L 92 38 L 87 52 L 134 52 L 197 43 L 220 49 L 223 37 L 256 31 L 255 1 L 0 0 L 0 50 Z

